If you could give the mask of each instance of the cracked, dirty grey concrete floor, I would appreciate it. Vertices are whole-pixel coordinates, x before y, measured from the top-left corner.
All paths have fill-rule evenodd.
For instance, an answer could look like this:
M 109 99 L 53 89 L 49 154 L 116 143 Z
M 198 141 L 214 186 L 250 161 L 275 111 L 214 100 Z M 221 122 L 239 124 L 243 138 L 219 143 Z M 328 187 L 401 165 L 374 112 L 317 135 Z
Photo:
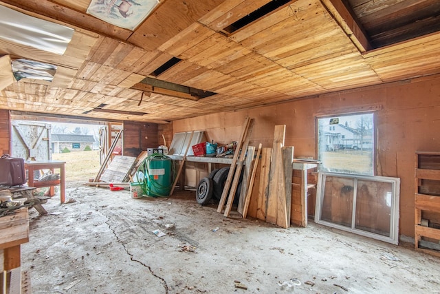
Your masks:
M 223 218 L 192 191 L 132 199 L 71 185 L 66 193 L 74 202 L 54 196 L 47 216 L 30 210 L 21 266 L 32 293 L 440 293 L 439 258 L 409 245 L 313 222 L 279 229 Z

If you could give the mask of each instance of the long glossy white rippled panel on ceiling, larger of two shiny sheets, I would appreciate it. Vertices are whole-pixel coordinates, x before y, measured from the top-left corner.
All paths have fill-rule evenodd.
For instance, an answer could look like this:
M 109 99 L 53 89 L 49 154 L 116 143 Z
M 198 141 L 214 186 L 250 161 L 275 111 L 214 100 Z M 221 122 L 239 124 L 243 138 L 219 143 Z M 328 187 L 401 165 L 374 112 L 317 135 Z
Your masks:
M 0 39 L 63 55 L 74 30 L 0 5 Z

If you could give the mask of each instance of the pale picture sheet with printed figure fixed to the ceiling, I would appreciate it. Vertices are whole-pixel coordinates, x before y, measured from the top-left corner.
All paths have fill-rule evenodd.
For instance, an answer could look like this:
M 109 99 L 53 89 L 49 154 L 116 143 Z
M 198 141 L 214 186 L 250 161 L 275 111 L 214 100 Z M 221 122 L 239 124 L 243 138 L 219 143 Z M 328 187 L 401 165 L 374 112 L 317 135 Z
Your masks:
M 87 13 L 120 28 L 134 30 L 159 0 L 91 0 Z

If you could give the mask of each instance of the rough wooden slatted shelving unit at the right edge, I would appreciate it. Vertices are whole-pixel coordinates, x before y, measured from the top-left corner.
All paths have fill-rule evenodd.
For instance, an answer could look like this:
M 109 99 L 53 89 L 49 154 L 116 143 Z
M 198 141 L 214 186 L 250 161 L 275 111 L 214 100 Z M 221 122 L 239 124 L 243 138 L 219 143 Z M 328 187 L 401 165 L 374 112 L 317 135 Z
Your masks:
M 440 152 L 415 153 L 415 249 L 440 257 L 440 251 L 419 247 L 421 238 L 440 240 Z

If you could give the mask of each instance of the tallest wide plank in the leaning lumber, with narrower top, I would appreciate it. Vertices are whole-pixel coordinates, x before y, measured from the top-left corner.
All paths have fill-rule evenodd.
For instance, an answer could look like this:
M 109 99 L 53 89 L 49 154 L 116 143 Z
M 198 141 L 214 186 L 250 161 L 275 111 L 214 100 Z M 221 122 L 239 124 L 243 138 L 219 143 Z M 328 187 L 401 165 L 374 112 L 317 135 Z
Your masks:
M 285 125 L 275 126 L 266 213 L 267 222 L 280 225 L 281 227 L 287 226 L 287 211 L 285 218 L 282 217 L 282 211 L 286 210 L 283 156 L 281 151 L 281 147 L 284 146 L 285 130 Z M 278 205 L 280 205 L 279 208 Z M 280 209 L 279 213 L 278 209 Z M 279 220 L 278 217 L 280 218 Z

